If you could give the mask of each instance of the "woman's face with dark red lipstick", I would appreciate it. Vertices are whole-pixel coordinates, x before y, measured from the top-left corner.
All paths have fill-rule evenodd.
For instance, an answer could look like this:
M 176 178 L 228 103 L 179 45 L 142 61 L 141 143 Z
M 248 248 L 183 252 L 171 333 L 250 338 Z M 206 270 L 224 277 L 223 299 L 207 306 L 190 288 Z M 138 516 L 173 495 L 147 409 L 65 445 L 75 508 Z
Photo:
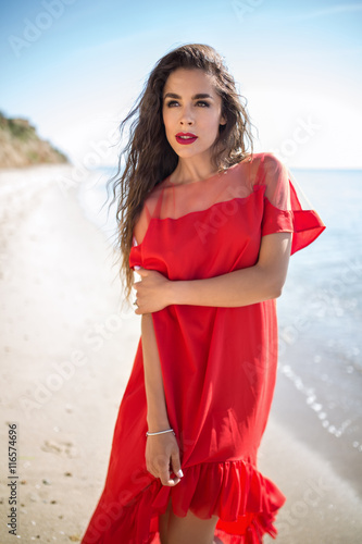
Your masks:
M 198 69 L 172 72 L 163 89 L 162 113 L 167 140 L 178 157 L 211 158 L 220 125 L 226 124 L 213 76 Z

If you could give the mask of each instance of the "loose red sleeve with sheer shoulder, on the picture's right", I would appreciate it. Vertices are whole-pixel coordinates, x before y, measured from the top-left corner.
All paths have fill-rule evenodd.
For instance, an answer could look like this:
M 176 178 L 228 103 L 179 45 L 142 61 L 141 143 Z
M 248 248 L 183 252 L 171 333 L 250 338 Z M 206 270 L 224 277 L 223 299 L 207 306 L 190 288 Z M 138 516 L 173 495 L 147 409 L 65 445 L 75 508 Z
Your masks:
M 262 236 L 292 233 L 292 255 L 324 231 L 321 218 L 311 209 L 290 172 L 273 154 L 261 156 L 255 184 L 265 186 Z

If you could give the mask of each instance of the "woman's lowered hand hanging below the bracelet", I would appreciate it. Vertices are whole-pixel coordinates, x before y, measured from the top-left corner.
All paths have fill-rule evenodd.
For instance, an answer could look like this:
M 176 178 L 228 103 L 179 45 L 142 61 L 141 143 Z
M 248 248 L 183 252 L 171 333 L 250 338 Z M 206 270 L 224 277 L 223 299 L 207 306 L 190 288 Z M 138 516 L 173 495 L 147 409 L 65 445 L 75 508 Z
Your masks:
M 180 470 L 177 441 L 173 433 L 147 437 L 146 467 L 152 475 L 160 478 L 162 485 L 172 486 L 180 481 L 184 474 Z

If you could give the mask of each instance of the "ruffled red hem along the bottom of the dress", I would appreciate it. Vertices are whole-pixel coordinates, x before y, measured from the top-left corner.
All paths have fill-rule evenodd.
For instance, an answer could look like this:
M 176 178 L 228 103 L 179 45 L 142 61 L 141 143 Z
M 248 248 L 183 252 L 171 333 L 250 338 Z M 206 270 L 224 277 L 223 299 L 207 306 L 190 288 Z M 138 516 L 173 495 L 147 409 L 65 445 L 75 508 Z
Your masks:
M 185 517 L 188 510 L 200 519 L 217 516 L 215 536 L 223 544 L 260 544 L 265 533 L 276 536 L 273 523 L 285 496 L 252 463 L 242 460 L 204 462 L 183 468 L 183 471 L 184 478 L 175 487 L 164 486 L 154 479 L 117 508 L 114 498 L 103 496 L 92 527 L 101 529 L 97 516 L 99 521 L 109 517 L 112 523 L 107 527 L 104 522 L 105 530 L 98 531 L 98 535 L 86 534 L 83 544 L 160 544 L 159 516 L 166 511 L 170 498 L 178 517 Z

